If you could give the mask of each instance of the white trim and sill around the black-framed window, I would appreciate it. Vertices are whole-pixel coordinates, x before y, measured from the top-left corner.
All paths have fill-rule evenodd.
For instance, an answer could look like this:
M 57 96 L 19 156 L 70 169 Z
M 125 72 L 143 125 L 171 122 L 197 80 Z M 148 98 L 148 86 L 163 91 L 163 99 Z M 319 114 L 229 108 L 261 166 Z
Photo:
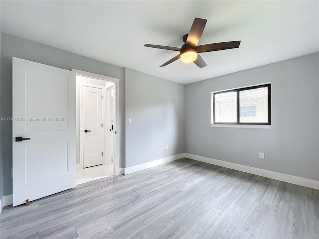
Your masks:
M 251 86 L 261 86 L 261 85 L 266 85 L 266 84 L 271 84 L 271 82 L 265 82 L 265 83 L 259 83 L 255 85 L 250 85 L 250 86 L 241 86 L 241 87 L 236 87 L 236 88 L 231 88 L 231 89 L 225 89 L 225 90 L 219 90 L 219 91 L 213 91 L 211 93 L 211 97 L 214 95 L 214 93 L 218 92 L 223 92 L 223 91 L 230 91 L 230 90 L 237 90 L 241 88 L 246 88 L 246 87 L 251 87 Z M 272 101 L 271 101 L 272 102 Z M 271 129 L 271 125 L 262 125 L 262 124 L 222 124 L 222 123 L 212 123 L 212 119 L 214 116 L 214 109 L 212 106 L 212 101 L 211 101 L 211 127 L 221 127 L 221 128 L 264 128 L 264 129 Z

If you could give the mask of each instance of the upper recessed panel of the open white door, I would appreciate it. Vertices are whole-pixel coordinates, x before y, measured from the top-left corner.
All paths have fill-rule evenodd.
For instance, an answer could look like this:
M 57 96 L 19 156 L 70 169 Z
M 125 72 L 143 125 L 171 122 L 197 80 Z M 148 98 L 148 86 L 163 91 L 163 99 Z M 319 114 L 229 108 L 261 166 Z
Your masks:
M 68 76 L 26 69 L 25 87 L 26 132 L 68 130 Z

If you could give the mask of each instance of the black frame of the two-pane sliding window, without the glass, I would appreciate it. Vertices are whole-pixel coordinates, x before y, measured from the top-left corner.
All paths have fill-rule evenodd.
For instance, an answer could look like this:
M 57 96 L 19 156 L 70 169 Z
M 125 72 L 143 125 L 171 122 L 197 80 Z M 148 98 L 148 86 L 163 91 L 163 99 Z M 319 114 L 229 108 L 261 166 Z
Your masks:
M 245 90 L 253 90 L 258 89 L 262 87 L 267 87 L 267 97 L 268 97 L 268 122 L 239 122 L 240 120 L 240 101 L 239 101 L 239 93 L 240 91 Z M 236 122 L 215 122 L 215 95 L 220 93 L 229 93 L 229 92 L 237 92 L 237 99 L 236 99 Z M 248 86 L 248 87 L 241 87 L 231 90 L 225 90 L 225 91 L 216 91 L 212 92 L 212 98 L 213 98 L 213 105 L 212 105 L 212 115 L 213 115 L 213 122 L 212 124 L 226 124 L 226 125 L 271 125 L 271 83 L 265 83 L 261 85 L 254 85 L 254 86 Z

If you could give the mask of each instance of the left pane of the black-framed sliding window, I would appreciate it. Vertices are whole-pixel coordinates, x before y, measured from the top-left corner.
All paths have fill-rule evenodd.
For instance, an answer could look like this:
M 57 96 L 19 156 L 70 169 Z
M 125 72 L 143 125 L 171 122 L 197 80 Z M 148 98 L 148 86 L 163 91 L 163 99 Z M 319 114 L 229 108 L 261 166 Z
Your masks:
M 216 93 L 215 123 L 235 123 L 237 121 L 237 92 Z

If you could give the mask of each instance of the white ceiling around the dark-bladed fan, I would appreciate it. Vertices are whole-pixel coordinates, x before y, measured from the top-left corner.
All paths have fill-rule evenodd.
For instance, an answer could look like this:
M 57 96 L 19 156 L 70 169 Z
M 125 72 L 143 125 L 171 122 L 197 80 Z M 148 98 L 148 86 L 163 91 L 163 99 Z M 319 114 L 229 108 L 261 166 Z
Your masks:
M 0 1 L 1 31 L 114 65 L 188 84 L 319 51 L 319 1 Z M 194 17 L 207 19 L 199 45 L 207 66 L 177 60 Z

